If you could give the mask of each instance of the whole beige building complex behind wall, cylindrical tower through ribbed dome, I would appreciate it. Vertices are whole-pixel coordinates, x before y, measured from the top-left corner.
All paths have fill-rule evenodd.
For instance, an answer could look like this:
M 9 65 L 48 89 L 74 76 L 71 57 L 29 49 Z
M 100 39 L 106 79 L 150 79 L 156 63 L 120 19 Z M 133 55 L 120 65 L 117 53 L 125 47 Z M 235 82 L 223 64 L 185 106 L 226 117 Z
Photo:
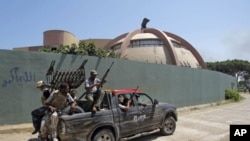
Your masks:
M 14 48 L 14 50 L 38 51 L 44 46 L 51 49 L 61 45 L 94 43 L 98 48 L 115 51 L 120 58 L 157 64 L 206 69 L 200 54 L 181 37 L 155 28 L 142 28 L 117 36 L 114 39 L 79 40 L 64 30 L 48 30 L 43 33 L 42 46 Z

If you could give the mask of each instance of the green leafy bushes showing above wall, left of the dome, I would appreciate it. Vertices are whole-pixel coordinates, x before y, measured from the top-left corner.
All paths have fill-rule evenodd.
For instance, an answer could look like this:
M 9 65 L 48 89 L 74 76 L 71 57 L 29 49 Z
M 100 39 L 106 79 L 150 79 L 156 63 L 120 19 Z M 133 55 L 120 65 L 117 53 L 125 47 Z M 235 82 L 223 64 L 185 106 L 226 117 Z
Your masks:
M 52 52 L 52 53 L 63 53 L 63 54 L 78 54 L 85 56 L 97 56 L 103 58 L 118 58 L 114 51 L 105 51 L 104 49 L 97 48 L 94 43 L 86 44 L 81 41 L 78 45 L 72 44 L 71 46 L 45 46 L 39 50 L 39 52 Z

